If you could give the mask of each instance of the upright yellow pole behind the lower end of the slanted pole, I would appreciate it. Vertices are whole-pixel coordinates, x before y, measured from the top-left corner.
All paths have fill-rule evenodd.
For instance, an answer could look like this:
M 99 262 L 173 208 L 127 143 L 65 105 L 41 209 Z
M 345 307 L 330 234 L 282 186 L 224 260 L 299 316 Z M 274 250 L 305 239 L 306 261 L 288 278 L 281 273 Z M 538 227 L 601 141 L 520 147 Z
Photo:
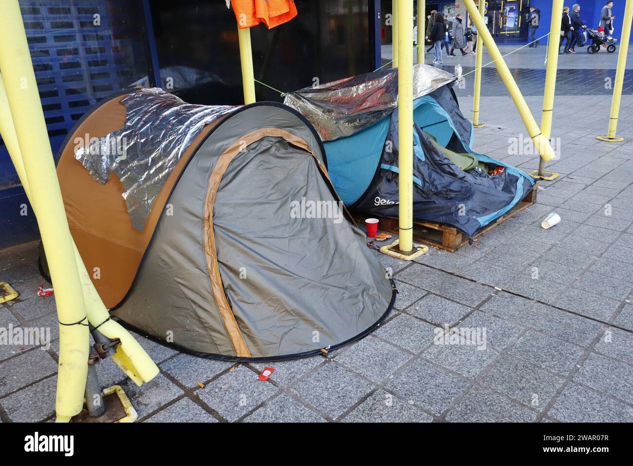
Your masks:
M 556 90 L 556 70 L 558 68 L 558 51 L 560 50 L 560 23 L 563 16 L 563 0 L 553 0 L 552 16 L 549 23 L 548 66 L 545 73 L 545 93 L 543 96 L 543 113 L 541 115 L 541 133 L 551 138 L 552 114 L 554 113 L 554 95 Z M 551 181 L 558 178 L 556 172 L 545 172 L 545 160 L 539 159 L 539 169 L 530 172 L 536 179 Z

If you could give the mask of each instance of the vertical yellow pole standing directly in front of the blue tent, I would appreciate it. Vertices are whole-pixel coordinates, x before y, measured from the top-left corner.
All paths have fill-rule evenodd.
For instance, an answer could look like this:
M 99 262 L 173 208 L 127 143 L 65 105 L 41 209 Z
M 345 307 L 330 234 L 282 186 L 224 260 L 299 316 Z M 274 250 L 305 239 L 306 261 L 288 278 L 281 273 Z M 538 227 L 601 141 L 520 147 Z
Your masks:
M 399 249 L 413 249 L 413 0 L 398 3 Z

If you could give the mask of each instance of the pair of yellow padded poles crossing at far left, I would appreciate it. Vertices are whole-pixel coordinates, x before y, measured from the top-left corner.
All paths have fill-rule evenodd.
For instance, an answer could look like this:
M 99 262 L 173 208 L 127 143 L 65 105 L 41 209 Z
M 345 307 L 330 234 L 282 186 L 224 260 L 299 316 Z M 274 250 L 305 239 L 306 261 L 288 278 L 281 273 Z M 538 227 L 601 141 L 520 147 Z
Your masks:
M 97 326 L 110 314 L 68 229 L 18 1 L 6 0 L 1 10 L 0 134 L 37 217 L 51 271 L 60 321 L 56 420 L 64 422 L 83 406 L 89 345 L 87 320 Z M 113 360 L 136 384 L 158 374 L 151 358 L 118 323 L 107 321 L 99 331 L 110 339 L 121 340 Z

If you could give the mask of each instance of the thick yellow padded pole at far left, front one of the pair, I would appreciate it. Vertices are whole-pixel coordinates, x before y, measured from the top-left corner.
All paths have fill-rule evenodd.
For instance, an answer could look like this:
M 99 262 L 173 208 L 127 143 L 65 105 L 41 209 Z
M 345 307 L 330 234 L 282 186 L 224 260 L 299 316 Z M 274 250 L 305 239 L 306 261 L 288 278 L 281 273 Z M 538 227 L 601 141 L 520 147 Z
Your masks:
M 68 421 L 84 405 L 89 346 L 84 296 L 20 6 L 17 0 L 4 0 L 1 10 L 0 70 L 32 202 L 37 205 L 37 223 L 46 248 L 60 320 L 57 420 Z

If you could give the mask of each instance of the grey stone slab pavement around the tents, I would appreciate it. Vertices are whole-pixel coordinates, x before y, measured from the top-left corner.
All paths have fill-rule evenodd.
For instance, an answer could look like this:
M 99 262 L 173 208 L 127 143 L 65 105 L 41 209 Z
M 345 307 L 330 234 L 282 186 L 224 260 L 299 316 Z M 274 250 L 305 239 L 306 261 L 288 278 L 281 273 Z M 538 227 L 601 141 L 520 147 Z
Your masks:
M 527 49 L 510 63 L 537 122 L 543 54 L 544 47 Z M 431 247 L 415 262 L 375 253 L 392 269 L 399 295 L 365 339 L 323 356 L 268 363 L 275 372 L 261 382 L 264 363 L 196 358 L 135 335 L 161 375 L 136 387 L 104 361 L 97 366 L 103 384 L 122 385 L 149 422 L 632 422 L 630 91 L 618 124 L 626 141 L 595 139 L 608 126 L 603 88 L 615 58 L 561 58 L 563 75 L 579 75 L 580 84 L 557 89 L 552 136 L 559 156 L 547 170 L 560 178 L 539 183 L 537 204 L 454 253 Z M 470 118 L 468 76 L 456 93 Z M 487 126 L 475 129 L 475 150 L 536 169 L 538 156 L 523 144 L 529 138 L 503 84 L 484 79 L 482 95 Z M 543 230 L 541 220 L 553 211 L 561 223 Z M 44 351 L 0 345 L 0 421 L 52 420 L 56 311 L 53 298 L 35 294 L 42 282 L 37 243 L 0 254 L 0 281 L 20 292 L 0 305 L 0 327 L 49 327 L 54 340 Z M 445 335 L 444 325 L 461 333 Z

